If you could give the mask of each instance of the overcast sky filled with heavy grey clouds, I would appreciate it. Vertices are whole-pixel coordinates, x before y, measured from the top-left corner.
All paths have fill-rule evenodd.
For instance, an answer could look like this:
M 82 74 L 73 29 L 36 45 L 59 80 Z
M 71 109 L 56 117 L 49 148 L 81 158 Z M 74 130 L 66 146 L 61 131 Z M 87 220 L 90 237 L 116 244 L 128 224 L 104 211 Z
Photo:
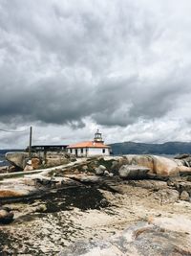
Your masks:
M 190 0 L 0 0 L 0 128 L 33 144 L 191 141 Z M 29 131 L 0 131 L 0 149 Z

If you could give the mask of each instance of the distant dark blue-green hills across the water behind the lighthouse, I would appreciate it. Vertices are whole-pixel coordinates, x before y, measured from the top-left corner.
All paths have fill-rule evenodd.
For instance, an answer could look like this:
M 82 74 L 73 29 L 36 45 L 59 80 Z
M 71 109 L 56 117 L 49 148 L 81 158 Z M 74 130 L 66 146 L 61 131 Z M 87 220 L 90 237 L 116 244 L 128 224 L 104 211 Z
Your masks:
M 163 144 L 149 144 L 136 142 L 122 142 L 110 145 L 114 154 L 178 154 L 191 153 L 191 142 L 166 142 Z

